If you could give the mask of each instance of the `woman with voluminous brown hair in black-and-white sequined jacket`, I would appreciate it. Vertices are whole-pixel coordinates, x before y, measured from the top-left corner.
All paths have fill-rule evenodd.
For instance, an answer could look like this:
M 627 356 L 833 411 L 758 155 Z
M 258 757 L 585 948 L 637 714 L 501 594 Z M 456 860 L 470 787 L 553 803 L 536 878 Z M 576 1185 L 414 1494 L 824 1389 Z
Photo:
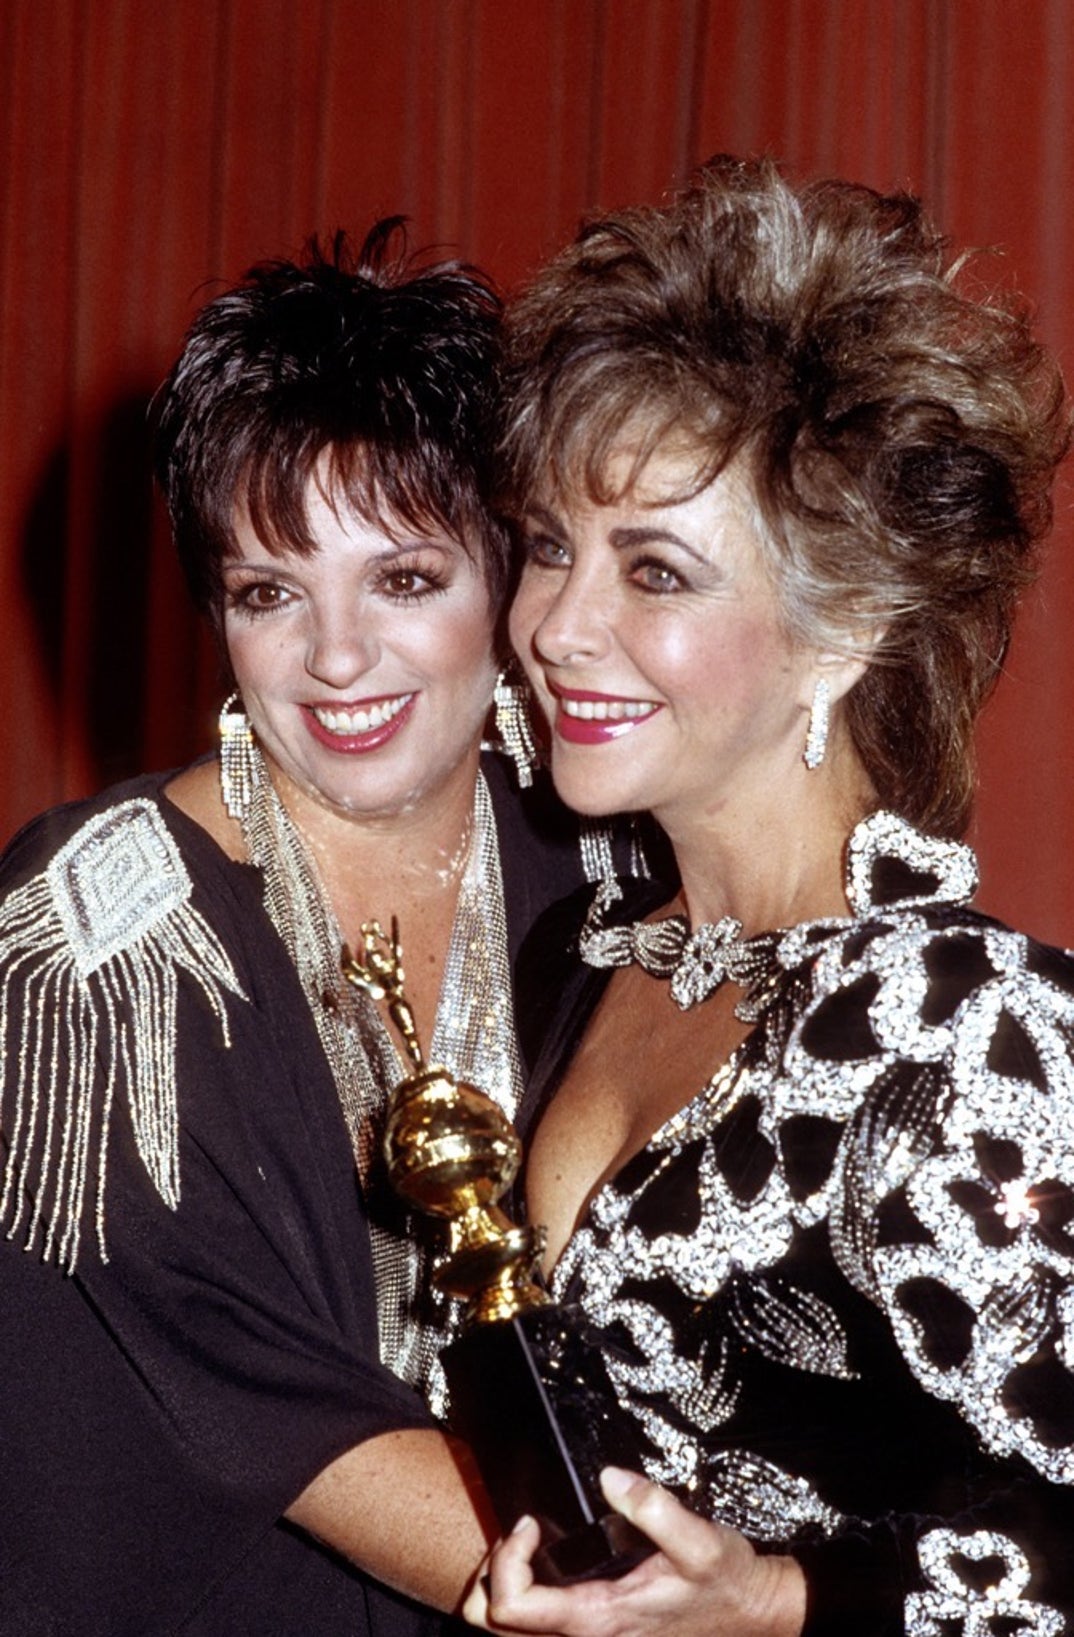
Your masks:
M 920 205 L 714 160 L 508 321 L 511 616 L 604 894 L 530 1090 L 547 1274 L 660 1554 L 488 1608 L 562 1632 L 1074 1616 L 1074 961 L 969 907 L 972 727 L 1067 440 L 1023 311 Z

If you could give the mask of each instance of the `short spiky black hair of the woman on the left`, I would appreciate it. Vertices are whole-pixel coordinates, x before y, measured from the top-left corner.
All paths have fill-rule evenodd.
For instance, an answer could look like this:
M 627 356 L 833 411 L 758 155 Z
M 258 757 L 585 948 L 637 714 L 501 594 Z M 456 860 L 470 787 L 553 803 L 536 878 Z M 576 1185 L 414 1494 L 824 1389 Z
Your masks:
M 490 282 L 408 257 L 401 216 L 357 254 L 342 232 L 311 239 L 210 301 L 156 399 L 157 480 L 198 607 L 219 622 L 236 507 L 270 550 L 314 550 L 314 471 L 370 522 L 445 529 L 499 606 L 508 542 L 486 509 L 498 344 Z

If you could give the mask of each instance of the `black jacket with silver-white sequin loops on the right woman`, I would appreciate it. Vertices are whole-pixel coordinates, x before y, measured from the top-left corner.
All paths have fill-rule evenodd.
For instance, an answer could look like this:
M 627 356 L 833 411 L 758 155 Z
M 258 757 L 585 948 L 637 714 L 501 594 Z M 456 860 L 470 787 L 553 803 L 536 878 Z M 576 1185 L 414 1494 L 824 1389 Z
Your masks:
M 810 1637 L 1074 1632 L 1074 956 L 974 887 L 968 848 L 858 825 L 853 917 L 779 936 L 555 1272 L 650 1477 L 792 1550 Z

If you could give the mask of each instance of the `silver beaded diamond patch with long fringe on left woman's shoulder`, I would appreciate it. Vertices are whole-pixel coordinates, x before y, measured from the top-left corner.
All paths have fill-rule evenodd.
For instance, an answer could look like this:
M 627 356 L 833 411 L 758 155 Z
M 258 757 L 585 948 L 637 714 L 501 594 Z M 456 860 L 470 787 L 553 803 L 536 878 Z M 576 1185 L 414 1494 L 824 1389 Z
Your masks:
M 165 782 L 138 779 L 54 809 L 0 863 L 8 1229 L 38 1197 L 28 1239 L 41 1226 L 46 1259 L 70 1269 L 87 1213 L 105 1252 L 116 1108 L 129 1115 L 160 1200 L 178 1203 L 180 985 L 201 1000 L 183 1017 L 196 1013 L 223 1048 L 232 1008 L 247 999 L 231 936 L 244 923 L 241 902 L 234 897 L 236 913 L 223 907 L 223 873 L 237 866 L 162 802 Z

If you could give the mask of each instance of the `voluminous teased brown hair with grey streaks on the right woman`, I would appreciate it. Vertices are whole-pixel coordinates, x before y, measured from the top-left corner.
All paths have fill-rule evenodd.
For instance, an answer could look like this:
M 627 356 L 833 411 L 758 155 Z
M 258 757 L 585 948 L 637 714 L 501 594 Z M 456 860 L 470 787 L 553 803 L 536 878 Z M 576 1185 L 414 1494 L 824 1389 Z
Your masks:
M 881 804 L 961 833 L 1069 434 L 1025 311 L 968 290 L 915 198 L 719 157 L 673 203 L 584 226 L 506 352 L 506 509 L 617 498 L 624 442 L 634 475 L 686 445 L 689 493 L 740 458 L 789 634 L 881 634 L 846 701 Z

